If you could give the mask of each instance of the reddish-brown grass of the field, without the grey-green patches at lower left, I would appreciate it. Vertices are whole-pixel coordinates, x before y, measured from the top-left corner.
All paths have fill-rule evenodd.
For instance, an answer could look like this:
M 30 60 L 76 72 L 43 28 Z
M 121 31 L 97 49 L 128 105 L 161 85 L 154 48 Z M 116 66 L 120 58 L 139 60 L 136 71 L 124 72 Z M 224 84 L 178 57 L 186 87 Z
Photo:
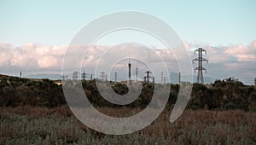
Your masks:
M 127 113 L 137 113 L 140 108 L 130 107 L 99 107 L 97 108 L 102 113 L 113 114 L 116 117 L 127 116 Z M 131 111 L 131 109 L 134 109 Z M 138 131 L 129 136 L 139 136 L 145 140 L 154 139 L 155 142 L 163 140 L 164 144 L 169 143 L 185 143 L 185 144 L 208 144 L 209 142 L 215 142 L 225 144 L 227 142 L 233 143 L 250 143 L 256 142 L 256 113 L 244 112 L 241 110 L 229 110 L 229 111 L 208 111 L 208 110 L 185 110 L 182 116 L 174 123 L 169 122 L 170 110 L 165 110 L 161 113 L 160 117 L 156 119 L 151 125 L 144 128 L 142 131 Z M 85 125 L 81 124 L 73 117 L 73 113 L 68 107 L 2 107 L 0 108 L 0 119 L 6 117 L 6 115 L 18 114 L 26 116 L 28 119 L 41 119 L 41 118 L 56 118 L 63 122 L 69 119 L 74 119 L 71 128 L 61 129 L 58 126 L 51 129 L 58 136 L 59 139 L 66 140 L 66 142 L 79 142 L 81 137 L 80 131 L 88 132 L 91 136 L 94 136 L 97 142 L 100 142 L 104 138 L 114 138 L 110 135 L 104 135 L 102 133 L 92 131 Z M 15 130 L 15 121 L 10 122 L 7 126 L 2 126 L 0 131 L 0 138 L 2 141 L 8 141 L 14 138 L 19 131 Z M 4 130 L 4 131 L 3 131 Z M 43 134 L 43 135 L 41 135 Z M 50 133 L 41 133 L 43 139 Z M 125 138 L 125 136 L 119 136 Z M 28 136 L 30 137 L 30 136 Z M 119 139 L 120 140 L 120 139 Z

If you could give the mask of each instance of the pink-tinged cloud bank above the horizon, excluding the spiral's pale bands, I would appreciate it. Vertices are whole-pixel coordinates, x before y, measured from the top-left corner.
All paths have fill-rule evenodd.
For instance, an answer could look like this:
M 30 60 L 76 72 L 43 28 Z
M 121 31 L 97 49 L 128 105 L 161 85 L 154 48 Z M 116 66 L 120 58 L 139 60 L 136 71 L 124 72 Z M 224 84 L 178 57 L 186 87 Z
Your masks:
M 184 47 L 188 49 L 191 59 L 196 57 L 196 55 L 194 55 L 196 48 L 201 47 L 207 49 L 207 55 L 204 55 L 209 60 L 209 64 L 204 66 L 208 71 L 208 73 L 205 74 L 206 76 L 214 79 L 235 76 L 240 78 L 245 84 L 253 84 L 253 78 L 256 78 L 256 41 L 247 45 L 238 44 L 229 46 L 184 43 Z M 95 67 L 102 53 L 108 48 L 108 46 L 92 46 L 84 57 L 82 67 L 88 69 Z M 137 56 L 140 56 L 144 60 L 154 61 L 154 57 L 148 55 L 147 50 L 140 49 L 138 46 L 136 49 Z M 19 74 L 20 70 L 27 74 L 61 73 L 62 59 L 66 51 L 67 46 L 44 46 L 30 43 L 15 47 L 12 44 L 2 43 L 0 44 L 0 73 L 15 75 Z M 120 47 L 119 56 L 122 57 L 122 55 L 125 55 L 126 51 L 128 52 L 129 49 Z M 168 58 L 170 68 L 175 67 L 175 69 L 171 69 L 174 72 L 178 71 L 176 69 L 176 59 L 186 59 L 183 57 L 182 53 L 178 52 L 178 49 L 176 53 L 178 55 L 175 55 L 175 57 L 169 50 L 162 48 L 148 49 L 148 51 L 154 51 L 155 54 Z M 84 53 L 84 47 L 81 46 L 74 49 L 73 55 L 66 55 L 65 57 L 75 59 L 76 53 Z M 112 57 L 106 57 L 106 60 L 104 60 L 106 66 L 108 66 L 108 59 L 113 57 L 114 55 Z M 70 64 L 70 67 L 73 67 L 73 64 Z M 196 64 L 194 67 L 196 67 Z

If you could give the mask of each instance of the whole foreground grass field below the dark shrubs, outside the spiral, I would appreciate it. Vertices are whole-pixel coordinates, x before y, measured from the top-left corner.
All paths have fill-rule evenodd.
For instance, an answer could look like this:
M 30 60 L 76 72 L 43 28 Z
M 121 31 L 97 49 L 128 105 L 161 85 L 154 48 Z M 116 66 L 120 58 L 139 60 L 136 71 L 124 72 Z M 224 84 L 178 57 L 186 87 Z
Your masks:
M 131 109 L 99 107 L 122 116 Z M 90 130 L 68 107 L 1 107 L 1 144 L 256 144 L 256 113 L 185 110 L 174 123 L 165 110 L 142 131 L 124 136 Z

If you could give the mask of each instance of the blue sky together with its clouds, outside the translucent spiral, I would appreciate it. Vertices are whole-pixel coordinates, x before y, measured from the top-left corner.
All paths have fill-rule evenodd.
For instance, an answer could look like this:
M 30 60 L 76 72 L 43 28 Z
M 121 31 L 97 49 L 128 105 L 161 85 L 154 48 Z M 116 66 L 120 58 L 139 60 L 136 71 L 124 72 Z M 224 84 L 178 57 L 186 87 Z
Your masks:
M 133 10 L 166 21 L 189 51 L 196 47 L 207 49 L 209 77 L 230 75 L 253 84 L 255 5 L 253 0 L 1 0 L 0 73 L 15 75 L 20 69 L 27 75 L 42 71 L 56 73 L 61 70 L 61 56 L 67 45 L 83 26 L 105 14 Z M 195 55 L 191 53 L 191 57 Z

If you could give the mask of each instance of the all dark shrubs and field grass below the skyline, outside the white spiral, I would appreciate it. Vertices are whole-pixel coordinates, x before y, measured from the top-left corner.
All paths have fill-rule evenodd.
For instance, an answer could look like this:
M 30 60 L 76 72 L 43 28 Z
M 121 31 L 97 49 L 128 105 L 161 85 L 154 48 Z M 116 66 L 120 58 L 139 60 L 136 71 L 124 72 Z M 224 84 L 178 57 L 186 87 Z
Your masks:
M 143 84 L 135 102 L 118 106 L 102 98 L 95 81 L 82 84 L 90 102 L 113 117 L 141 112 L 154 91 L 152 84 Z M 112 87 L 120 95 L 128 92 L 125 84 Z M 67 107 L 62 86 L 54 81 L 0 76 L 0 144 L 256 144 L 254 86 L 236 78 L 194 84 L 187 109 L 170 123 L 178 90 L 178 84 L 171 85 L 168 104 L 154 123 L 142 131 L 112 136 L 80 123 Z

